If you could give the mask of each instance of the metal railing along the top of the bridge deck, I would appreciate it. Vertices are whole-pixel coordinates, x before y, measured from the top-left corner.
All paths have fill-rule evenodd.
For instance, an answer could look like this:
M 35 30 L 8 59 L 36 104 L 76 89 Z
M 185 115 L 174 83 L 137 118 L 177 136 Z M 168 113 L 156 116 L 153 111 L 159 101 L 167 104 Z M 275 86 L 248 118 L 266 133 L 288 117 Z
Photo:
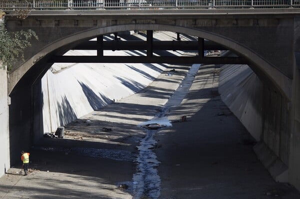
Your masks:
M 293 8 L 300 0 L 1 0 L 0 9 L 212 9 Z

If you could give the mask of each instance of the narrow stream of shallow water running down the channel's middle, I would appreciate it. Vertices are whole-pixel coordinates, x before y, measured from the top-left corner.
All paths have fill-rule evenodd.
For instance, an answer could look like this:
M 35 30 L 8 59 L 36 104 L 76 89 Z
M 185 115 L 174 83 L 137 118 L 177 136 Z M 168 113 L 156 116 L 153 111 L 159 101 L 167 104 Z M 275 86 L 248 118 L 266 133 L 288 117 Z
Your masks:
M 170 121 L 165 117 L 165 113 L 171 107 L 178 106 L 184 99 L 199 67 L 200 64 L 193 64 L 161 111 L 151 120 L 143 122 L 139 126 L 147 127 L 150 124 L 158 124 L 160 127 L 171 126 Z M 157 144 L 154 135 L 158 131 L 158 129 L 145 128 L 146 136 L 140 141 L 138 146 L 138 155 L 135 160 L 137 164 L 136 173 L 132 178 L 132 195 L 134 199 L 141 199 L 142 197 L 158 199 L 160 196 L 160 177 L 156 169 L 159 161 L 156 160 L 156 155 L 153 152 Z

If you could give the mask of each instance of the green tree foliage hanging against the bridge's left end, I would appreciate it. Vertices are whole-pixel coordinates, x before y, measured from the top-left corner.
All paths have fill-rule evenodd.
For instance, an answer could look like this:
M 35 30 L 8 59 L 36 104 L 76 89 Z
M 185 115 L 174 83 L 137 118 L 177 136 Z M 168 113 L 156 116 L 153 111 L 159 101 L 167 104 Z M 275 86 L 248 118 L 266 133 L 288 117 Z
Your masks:
M 4 66 L 7 66 L 7 71 L 12 69 L 16 59 L 24 58 L 23 50 L 31 45 L 32 38 L 38 39 L 31 29 L 7 32 L 5 22 L 0 18 L 0 60 Z

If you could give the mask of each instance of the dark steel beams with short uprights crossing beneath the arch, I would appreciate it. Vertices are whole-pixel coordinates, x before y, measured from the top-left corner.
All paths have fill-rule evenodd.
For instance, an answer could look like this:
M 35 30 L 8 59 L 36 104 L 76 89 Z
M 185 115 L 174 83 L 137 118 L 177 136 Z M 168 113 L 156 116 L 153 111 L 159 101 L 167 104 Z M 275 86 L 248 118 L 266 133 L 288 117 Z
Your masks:
M 248 64 L 243 57 L 208 57 L 204 50 L 225 50 L 224 47 L 198 38 L 197 41 L 153 41 L 153 30 L 147 30 L 146 41 L 103 41 L 103 35 L 96 41 L 78 44 L 75 50 L 97 50 L 97 56 L 53 55 L 48 62 L 65 63 L 172 63 L 172 64 Z M 104 56 L 103 50 L 146 50 L 146 56 Z M 196 56 L 153 56 L 154 50 L 191 50 Z

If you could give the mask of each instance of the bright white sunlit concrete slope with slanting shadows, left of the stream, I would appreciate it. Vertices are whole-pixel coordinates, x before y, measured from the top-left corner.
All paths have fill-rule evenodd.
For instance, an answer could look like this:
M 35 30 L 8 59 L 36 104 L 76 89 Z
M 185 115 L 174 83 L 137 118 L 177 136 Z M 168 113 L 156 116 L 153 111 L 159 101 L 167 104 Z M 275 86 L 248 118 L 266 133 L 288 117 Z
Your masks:
M 124 40 L 145 40 L 142 34 Z M 172 32 L 155 32 L 154 39 L 173 40 Z M 104 36 L 105 40 L 113 36 Z M 187 38 L 181 38 L 182 40 Z M 104 55 L 145 55 L 145 51 L 104 51 Z M 165 52 L 181 55 L 183 52 Z M 70 50 L 67 55 L 95 55 L 94 51 Z M 56 63 L 42 78 L 43 130 L 53 132 L 72 120 L 113 100 L 132 95 L 149 85 L 166 69 L 164 64 Z

